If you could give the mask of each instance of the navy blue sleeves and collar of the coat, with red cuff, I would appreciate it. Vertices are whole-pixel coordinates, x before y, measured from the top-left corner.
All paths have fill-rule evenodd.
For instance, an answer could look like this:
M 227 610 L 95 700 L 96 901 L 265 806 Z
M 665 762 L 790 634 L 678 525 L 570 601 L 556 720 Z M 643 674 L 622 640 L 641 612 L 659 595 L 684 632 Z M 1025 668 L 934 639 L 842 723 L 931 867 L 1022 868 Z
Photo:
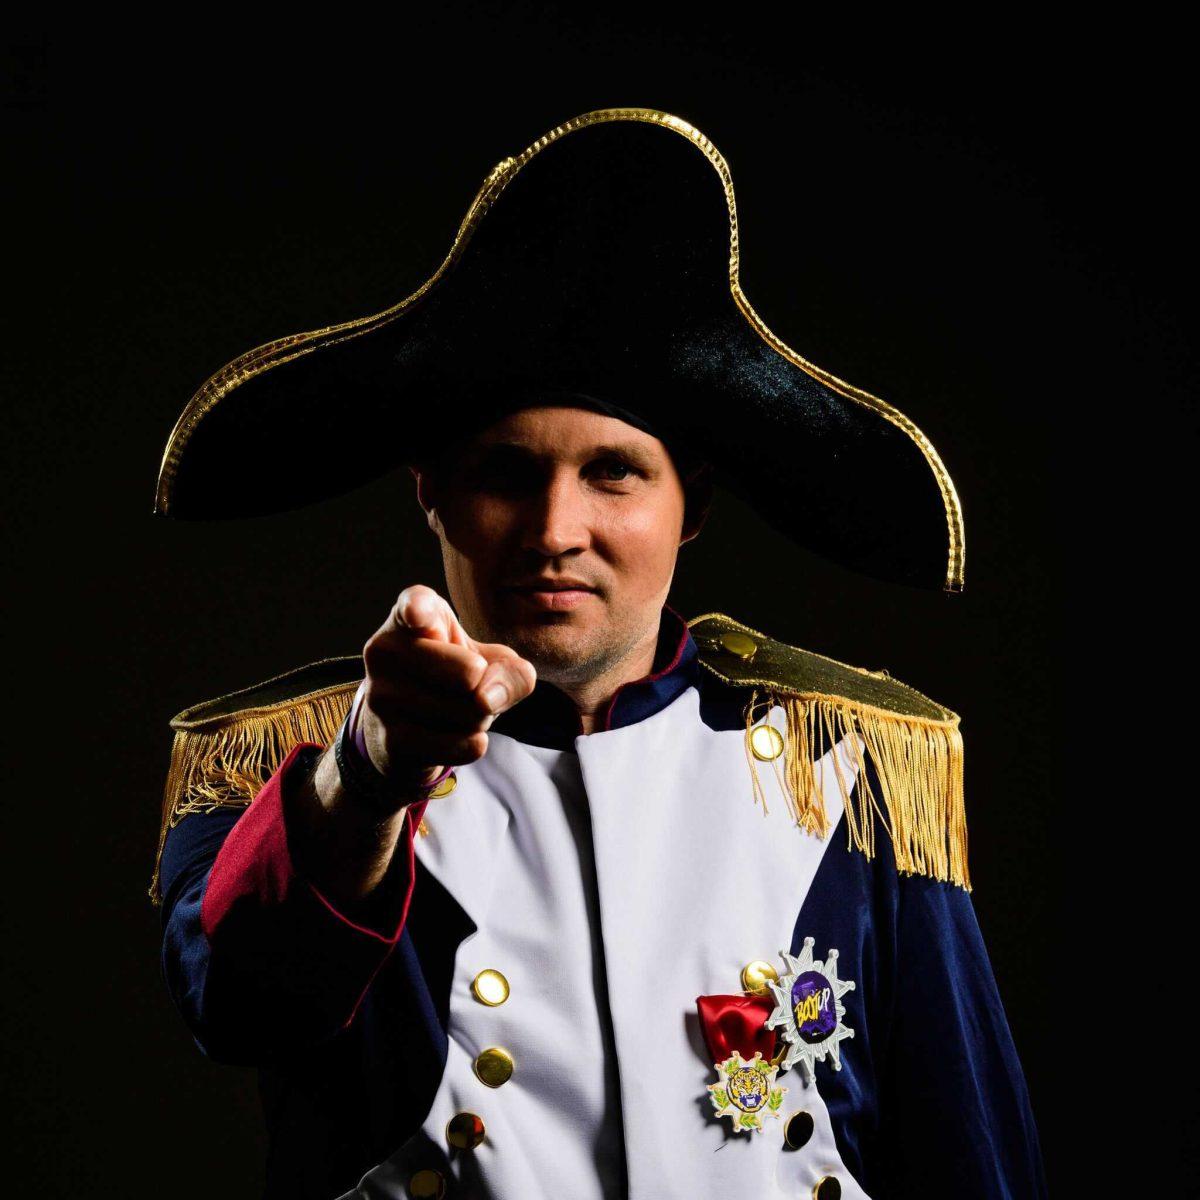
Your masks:
M 713 728 L 744 724 L 745 694 L 702 670 L 686 624 L 664 610 L 655 668 L 623 685 L 605 728 L 643 720 L 686 688 Z M 571 749 L 571 701 L 548 683 L 492 728 Z M 370 914 L 337 911 L 296 869 L 288 800 L 323 748 L 299 743 L 245 810 L 184 818 L 161 865 L 162 967 L 200 1050 L 259 1070 L 268 1198 L 331 1200 L 421 1126 L 446 1060 L 449 989 L 474 930 L 413 854 Z M 866 769 L 874 770 L 870 760 Z M 797 914 L 836 946 L 859 1006 L 854 1052 L 822 1079 L 839 1152 L 892 1198 L 1038 1198 L 1045 1180 L 1020 1061 L 971 895 L 876 854 L 827 853 Z

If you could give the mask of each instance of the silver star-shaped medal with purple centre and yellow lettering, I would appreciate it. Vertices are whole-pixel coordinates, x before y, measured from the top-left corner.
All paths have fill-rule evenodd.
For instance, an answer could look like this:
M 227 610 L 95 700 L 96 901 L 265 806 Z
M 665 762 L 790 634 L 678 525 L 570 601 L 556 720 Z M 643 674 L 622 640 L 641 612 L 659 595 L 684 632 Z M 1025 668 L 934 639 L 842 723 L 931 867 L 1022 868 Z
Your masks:
M 768 1030 L 782 1026 L 782 1036 L 790 1042 L 781 1069 L 787 1070 L 799 1063 L 808 1082 L 816 1076 L 816 1061 L 829 1055 L 834 1070 L 841 1070 L 841 1052 L 838 1044 L 842 1038 L 852 1038 L 854 1031 L 842 1024 L 846 1009 L 841 997 L 854 986 L 851 979 L 838 978 L 838 952 L 830 950 L 822 962 L 812 958 L 814 938 L 804 938 L 800 956 L 782 952 L 787 973 L 779 980 L 768 980 L 775 995 L 775 1010 L 767 1018 Z

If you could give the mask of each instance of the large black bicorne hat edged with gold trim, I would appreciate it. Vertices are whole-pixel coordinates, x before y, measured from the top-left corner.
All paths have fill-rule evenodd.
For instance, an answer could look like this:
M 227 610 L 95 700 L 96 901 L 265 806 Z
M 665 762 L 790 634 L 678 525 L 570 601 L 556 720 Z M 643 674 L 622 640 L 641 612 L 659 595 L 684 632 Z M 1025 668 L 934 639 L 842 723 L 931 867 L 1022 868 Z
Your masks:
M 738 284 L 728 166 L 654 109 L 584 113 L 498 163 L 400 304 L 217 371 L 172 431 L 155 511 L 295 509 L 572 392 L 707 458 L 796 542 L 961 590 L 962 512 L 937 451 L 767 329 Z

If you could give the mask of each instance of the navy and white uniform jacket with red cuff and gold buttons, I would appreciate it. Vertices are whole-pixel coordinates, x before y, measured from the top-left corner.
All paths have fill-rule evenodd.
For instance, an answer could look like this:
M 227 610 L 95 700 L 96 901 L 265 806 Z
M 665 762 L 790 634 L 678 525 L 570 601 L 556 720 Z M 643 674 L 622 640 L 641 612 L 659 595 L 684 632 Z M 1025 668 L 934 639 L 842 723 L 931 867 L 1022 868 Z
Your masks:
M 751 740 L 750 688 L 731 682 L 756 642 L 781 644 L 664 608 L 654 671 L 587 736 L 539 683 L 449 794 L 410 808 L 370 913 L 338 912 L 288 847 L 289 781 L 326 737 L 294 725 L 248 806 L 176 794 L 163 970 L 198 1045 L 260 1070 L 268 1196 L 1044 1195 L 968 892 L 898 870 L 887 833 L 853 845 L 844 798 L 863 773 L 880 784 L 853 730 L 806 746 L 826 828 L 798 828 L 781 752 L 797 726 L 768 702 L 752 730 L 776 732 Z M 280 677 L 176 730 L 281 697 L 336 695 L 344 714 L 360 678 L 361 661 L 341 691 L 305 676 L 298 697 L 299 673 Z M 826 1025 L 802 1026 L 802 992 Z M 751 1088 L 748 1126 L 698 1000 L 756 994 L 758 1044 L 803 1052 Z

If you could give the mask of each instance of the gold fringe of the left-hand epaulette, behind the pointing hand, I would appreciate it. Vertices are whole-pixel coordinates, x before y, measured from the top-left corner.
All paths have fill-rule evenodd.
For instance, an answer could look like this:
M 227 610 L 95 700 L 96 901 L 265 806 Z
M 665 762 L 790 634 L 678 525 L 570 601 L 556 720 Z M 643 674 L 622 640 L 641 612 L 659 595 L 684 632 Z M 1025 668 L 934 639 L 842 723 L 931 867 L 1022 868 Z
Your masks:
M 163 788 L 162 829 L 150 899 L 162 902 L 158 869 L 167 833 L 193 812 L 246 808 L 298 742 L 331 745 L 359 682 L 202 728 L 176 728 Z

